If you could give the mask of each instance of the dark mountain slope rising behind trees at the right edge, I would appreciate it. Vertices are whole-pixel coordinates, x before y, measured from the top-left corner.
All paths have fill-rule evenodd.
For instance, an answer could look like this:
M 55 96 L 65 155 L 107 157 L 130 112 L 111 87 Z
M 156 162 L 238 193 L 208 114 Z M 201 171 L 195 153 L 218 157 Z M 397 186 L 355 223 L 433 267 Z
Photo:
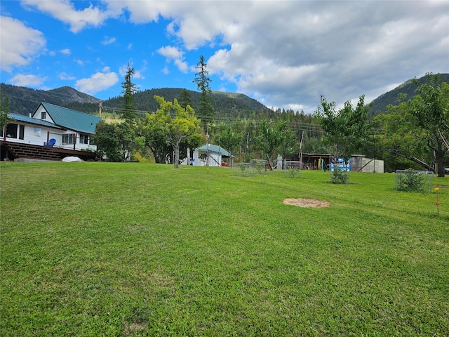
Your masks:
M 417 79 L 420 84 L 425 83 L 426 78 L 421 77 Z M 446 82 L 449 84 L 449 74 L 440 74 L 439 83 Z M 383 114 L 387 111 L 388 105 L 398 105 L 398 95 L 406 94 L 406 101 L 413 99 L 416 95 L 417 85 L 413 83 L 413 79 L 409 79 L 405 81 L 400 86 L 394 88 L 383 95 L 380 95 L 378 98 L 373 100 L 373 105 L 370 107 L 369 114 L 370 116 L 375 116 L 376 114 Z

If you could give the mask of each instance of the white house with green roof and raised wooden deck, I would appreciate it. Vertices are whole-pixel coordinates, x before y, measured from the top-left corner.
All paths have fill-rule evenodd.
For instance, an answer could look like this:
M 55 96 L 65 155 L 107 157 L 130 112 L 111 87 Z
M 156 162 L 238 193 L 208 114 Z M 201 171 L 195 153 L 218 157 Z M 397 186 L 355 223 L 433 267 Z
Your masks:
M 29 117 L 9 116 L 14 120 L 0 130 L 1 160 L 95 159 L 93 135 L 100 117 L 50 103 L 40 103 Z

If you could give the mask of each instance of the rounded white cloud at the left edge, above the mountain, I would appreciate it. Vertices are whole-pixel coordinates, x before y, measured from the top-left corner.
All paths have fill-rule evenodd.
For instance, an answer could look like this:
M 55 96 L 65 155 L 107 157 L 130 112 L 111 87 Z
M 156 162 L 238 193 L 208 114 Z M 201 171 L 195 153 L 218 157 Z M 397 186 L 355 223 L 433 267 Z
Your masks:
M 44 51 L 46 39 L 39 30 L 25 26 L 19 20 L 0 18 L 1 69 L 11 72 L 13 67 L 28 65 Z

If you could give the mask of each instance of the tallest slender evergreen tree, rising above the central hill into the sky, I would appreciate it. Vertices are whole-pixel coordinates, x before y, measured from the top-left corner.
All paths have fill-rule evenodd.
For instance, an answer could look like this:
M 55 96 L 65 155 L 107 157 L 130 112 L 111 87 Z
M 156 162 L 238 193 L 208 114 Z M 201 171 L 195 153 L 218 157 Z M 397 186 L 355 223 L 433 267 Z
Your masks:
M 201 55 L 199 62 L 196 64 L 198 72 L 195 74 L 194 83 L 201 91 L 201 98 L 199 100 L 198 114 L 203 119 L 212 119 L 215 116 L 213 108 L 214 100 L 210 95 L 212 90 L 210 89 L 210 78 L 208 77 L 208 71 L 206 70 L 207 64 L 204 61 L 204 56 Z

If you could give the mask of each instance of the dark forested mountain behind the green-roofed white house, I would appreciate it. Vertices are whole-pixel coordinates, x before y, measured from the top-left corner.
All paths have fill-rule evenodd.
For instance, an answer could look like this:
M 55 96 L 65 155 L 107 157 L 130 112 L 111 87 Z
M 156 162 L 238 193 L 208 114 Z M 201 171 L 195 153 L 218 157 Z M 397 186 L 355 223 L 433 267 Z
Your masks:
M 61 88 L 46 91 L 2 83 L 0 84 L 0 88 L 2 95 L 11 98 L 9 110 L 16 114 L 29 115 L 36 110 L 37 105 L 41 102 L 60 105 L 62 107 L 67 107 L 69 103 L 91 103 L 98 106 L 100 102 L 98 98 L 81 93 L 69 86 L 62 86 Z

